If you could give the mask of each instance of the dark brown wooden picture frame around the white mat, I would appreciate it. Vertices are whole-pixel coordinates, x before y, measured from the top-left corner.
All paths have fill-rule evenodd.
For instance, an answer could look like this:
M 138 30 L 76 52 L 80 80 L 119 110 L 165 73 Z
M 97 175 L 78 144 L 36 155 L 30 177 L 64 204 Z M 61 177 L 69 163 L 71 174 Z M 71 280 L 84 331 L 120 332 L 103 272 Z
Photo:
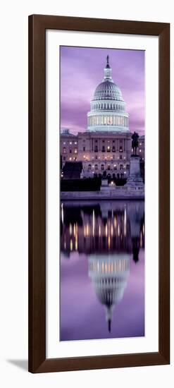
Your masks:
M 46 358 L 46 30 L 159 37 L 159 352 Z M 29 16 L 29 371 L 170 363 L 170 25 Z

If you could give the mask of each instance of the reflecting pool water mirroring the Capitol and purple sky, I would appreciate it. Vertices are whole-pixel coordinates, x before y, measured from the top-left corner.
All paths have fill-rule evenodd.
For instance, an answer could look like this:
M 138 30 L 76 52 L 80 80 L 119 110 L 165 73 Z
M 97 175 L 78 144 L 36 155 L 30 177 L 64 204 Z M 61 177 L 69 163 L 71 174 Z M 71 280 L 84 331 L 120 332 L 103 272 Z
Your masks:
M 144 336 L 144 201 L 61 203 L 63 341 Z

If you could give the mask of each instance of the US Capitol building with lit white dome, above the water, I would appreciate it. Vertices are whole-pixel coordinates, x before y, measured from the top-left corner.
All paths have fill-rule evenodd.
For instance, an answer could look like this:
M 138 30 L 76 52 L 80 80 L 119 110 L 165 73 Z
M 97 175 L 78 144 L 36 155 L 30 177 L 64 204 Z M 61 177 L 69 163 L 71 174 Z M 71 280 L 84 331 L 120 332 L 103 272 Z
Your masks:
M 105 175 L 127 178 L 132 153 L 129 114 L 120 88 L 113 82 L 109 58 L 104 79 L 94 91 L 87 113 L 87 130 L 77 135 L 61 131 L 61 160 L 66 165 L 81 162 L 80 177 Z M 144 136 L 139 136 L 137 154 L 144 161 Z M 62 174 L 63 176 L 63 174 Z

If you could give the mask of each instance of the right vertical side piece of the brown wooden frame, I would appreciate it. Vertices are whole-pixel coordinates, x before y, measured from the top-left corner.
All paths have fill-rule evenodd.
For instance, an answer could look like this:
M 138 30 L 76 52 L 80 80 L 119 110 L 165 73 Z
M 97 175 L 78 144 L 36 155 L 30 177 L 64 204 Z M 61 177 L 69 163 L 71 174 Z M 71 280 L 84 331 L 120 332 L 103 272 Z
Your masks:
M 170 362 L 170 25 L 159 36 L 159 352 Z

